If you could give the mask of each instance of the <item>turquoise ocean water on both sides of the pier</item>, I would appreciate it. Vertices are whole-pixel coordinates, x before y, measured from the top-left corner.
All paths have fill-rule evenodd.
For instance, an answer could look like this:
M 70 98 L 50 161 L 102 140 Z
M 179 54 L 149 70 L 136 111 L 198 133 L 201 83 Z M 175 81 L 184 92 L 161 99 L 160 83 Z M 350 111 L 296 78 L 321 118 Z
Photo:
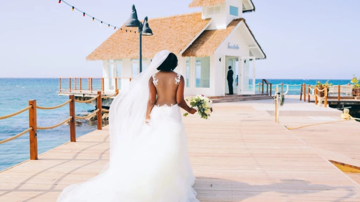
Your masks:
M 316 84 L 317 80 L 269 79 L 273 84 Z M 321 80 L 325 83 L 326 80 Z M 256 83 L 261 80 L 256 80 Z M 348 84 L 349 80 L 330 80 L 330 83 Z M 28 100 L 35 99 L 37 105 L 52 107 L 68 100 L 66 96 L 58 96 L 58 79 L 36 78 L 0 78 L 0 116 L 14 113 L 28 106 Z M 257 87 L 256 87 L 257 88 Z M 275 88 L 275 86 L 273 86 Z M 285 87 L 284 87 L 285 88 Z M 274 89 L 273 89 L 274 90 Z M 289 94 L 300 94 L 300 86 L 291 86 Z M 76 114 L 87 114 L 93 106 L 76 103 Z M 69 117 L 69 105 L 53 110 L 37 109 L 37 125 L 52 126 Z M 96 129 L 83 121 L 76 126 L 76 136 L 85 135 Z M 28 128 L 28 112 L 15 117 L 0 120 L 0 140 L 12 137 Z M 68 125 L 62 125 L 51 130 L 38 130 L 37 143 L 39 154 L 48 151 L 70 140 Z M 0 170 L 21 163 L 29 158 L 29 135 L 25 135 L 0 145 Z

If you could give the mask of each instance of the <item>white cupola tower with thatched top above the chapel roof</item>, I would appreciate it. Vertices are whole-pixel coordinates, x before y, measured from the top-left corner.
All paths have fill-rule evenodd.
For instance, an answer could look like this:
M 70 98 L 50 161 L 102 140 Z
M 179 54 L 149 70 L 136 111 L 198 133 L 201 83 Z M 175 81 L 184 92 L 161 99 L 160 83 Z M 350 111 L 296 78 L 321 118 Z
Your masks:
M 205 0 L 202 1 L 202 5 L 195 1 L 198 0 L 194 0 L 192 4 L 202 7 L 202 18 L 212 19 L 212 23 L 207 30 L 225 29 L 233 19 L 242 18 L 243 12 L 255 10 L 251 0 L 220 0 L 217 4 L 207 3 Z M 190 4 L 190 7 L 192 7 L 192 4 Z

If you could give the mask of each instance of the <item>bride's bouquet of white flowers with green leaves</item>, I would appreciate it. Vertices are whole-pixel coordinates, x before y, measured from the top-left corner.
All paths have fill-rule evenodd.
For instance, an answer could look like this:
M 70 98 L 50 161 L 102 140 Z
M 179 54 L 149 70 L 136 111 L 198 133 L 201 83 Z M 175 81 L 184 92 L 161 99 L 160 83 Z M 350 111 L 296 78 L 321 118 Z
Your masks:
M 198 114 L 203 119 L 207 119 L 210 117 L 210 113 L 212 112 L 212 100 L 204 95 L 196 95 L 195 98 L 186 99 L 186 101 L 190 101 L 190 105 L 198 111 Z M 188 116 L 189 113 L 185 113 L 184 116 Z

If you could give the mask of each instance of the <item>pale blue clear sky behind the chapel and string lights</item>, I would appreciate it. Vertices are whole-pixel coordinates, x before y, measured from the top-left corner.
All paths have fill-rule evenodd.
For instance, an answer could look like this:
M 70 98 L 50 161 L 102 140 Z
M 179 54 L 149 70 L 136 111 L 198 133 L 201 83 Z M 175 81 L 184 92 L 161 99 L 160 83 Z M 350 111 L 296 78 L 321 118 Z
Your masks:
M 188 8 L 191 0 L 67 2 L 117 26 L 129 18 L 132 4 L 141 19 L 199 10 Z M 257 78 L 360 76 L 359 0 L 253 2 L 256 11 L 243 17 L 267 55 L 256 63 Z M 102 76 L 102 62 L 86 61 L 85 57 L 113 29 L 100 27 L 58 0 L 1 0 L 0 19 L 0 77 Z

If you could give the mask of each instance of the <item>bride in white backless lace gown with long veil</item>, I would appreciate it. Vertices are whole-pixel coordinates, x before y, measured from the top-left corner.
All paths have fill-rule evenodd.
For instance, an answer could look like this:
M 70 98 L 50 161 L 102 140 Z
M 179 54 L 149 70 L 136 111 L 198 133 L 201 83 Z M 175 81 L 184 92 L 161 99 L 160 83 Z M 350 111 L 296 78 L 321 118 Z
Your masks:
M 58 202 L 199 202 L 180 107 L 196 110 L 184 100 L 176 66 L 174 53 L 157 53 L 113 100 L 107 170 L 66 187 Z

